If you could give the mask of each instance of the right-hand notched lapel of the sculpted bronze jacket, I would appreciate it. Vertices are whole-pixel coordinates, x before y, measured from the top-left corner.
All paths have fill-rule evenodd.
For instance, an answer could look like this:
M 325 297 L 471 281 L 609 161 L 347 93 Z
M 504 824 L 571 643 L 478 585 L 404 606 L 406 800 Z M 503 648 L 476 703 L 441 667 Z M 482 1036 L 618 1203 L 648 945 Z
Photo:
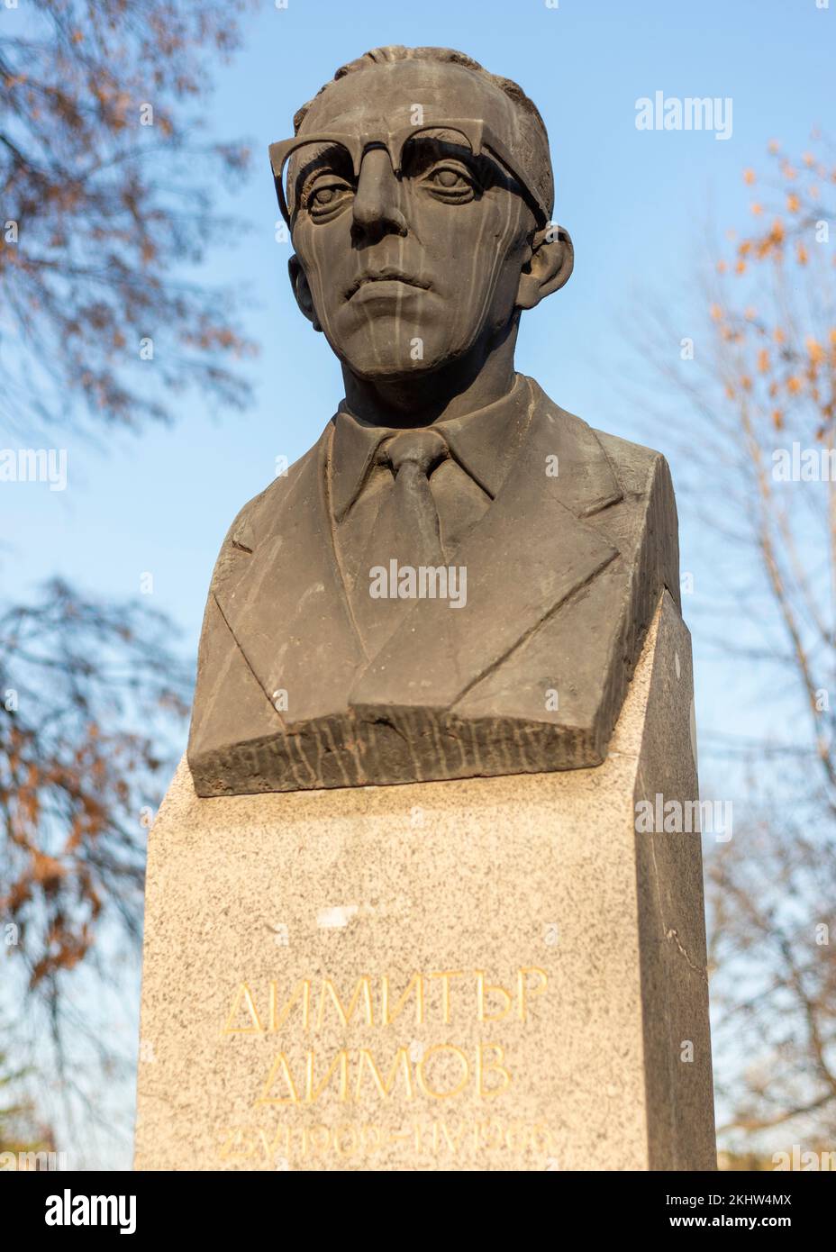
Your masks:
M 533 416 L 519 454 L 451 558 L 467 571 L 464 607 L 415 601 L 353 686 L 353 706 L 452 709 L 618 555 L 583 521 L 622 498 L 609 459 L 586 422 L 528 382 Z

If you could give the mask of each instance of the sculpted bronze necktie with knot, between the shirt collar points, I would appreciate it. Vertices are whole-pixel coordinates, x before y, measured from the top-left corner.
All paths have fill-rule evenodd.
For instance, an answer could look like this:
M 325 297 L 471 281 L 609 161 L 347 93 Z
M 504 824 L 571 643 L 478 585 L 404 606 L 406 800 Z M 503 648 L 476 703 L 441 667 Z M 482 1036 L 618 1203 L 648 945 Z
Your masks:
M 400 565 L 444 563 L 438 510 L 429 476 L 449 456 L 447 441 L 432 426 L 400 431 L 380 446 L 380 459 L 394 475 L 394 553 Z

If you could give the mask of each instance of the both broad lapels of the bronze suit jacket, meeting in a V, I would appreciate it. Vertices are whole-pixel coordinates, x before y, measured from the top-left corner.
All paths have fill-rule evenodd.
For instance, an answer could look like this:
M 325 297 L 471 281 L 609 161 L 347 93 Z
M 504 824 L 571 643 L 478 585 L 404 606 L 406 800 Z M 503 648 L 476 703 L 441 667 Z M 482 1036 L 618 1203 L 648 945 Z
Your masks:
M 335 555 L 328 487 L 333 423 L 233 526 L 213 591 L 265 697 L 287 692 L 277 729 L 348 706 L 452 709 L 617 555 L 583 518 L 622 498 L 594 432 L 532 379 L 517 459 L 453 555 L 467 602 L 418 600 L 367 661 Z M 557 462 L 548 458 L 557 457 Z M 557 466 L 557 476 L 547 468 Z M 278 701 L 279 707 L 283 701 Z

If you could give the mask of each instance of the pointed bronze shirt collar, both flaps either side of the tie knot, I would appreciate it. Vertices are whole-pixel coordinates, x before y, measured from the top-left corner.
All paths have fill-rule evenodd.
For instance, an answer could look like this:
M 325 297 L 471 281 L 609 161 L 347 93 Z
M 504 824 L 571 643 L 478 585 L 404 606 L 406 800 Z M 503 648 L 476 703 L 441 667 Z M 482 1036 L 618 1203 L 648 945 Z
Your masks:
M 463 417 L 436 423 L 454 459 L 491 498 L 499 491 L 517 456 L 531 411 L 528 379 L 516 374 L 513 387 L 501 399 Z M 338 409 L 330 452 L 332 506 L 338 522 L 359 496 L 378 447 L 397 433 L 388 426 L 358 421 L 344 406 Z

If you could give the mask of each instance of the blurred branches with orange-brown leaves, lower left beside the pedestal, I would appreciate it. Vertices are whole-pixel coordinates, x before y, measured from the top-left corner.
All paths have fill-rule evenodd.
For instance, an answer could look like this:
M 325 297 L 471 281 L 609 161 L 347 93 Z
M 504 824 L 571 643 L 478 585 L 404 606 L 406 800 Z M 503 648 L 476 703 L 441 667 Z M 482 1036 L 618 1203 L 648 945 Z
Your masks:
M 188 711 L 169 639 L 148 610 L 83 600 L 59 580 L 0 618 L 0 918 L 15 928 L 8 959 L 46 997 L 103 910 L 139 933 L 165 724 Z

